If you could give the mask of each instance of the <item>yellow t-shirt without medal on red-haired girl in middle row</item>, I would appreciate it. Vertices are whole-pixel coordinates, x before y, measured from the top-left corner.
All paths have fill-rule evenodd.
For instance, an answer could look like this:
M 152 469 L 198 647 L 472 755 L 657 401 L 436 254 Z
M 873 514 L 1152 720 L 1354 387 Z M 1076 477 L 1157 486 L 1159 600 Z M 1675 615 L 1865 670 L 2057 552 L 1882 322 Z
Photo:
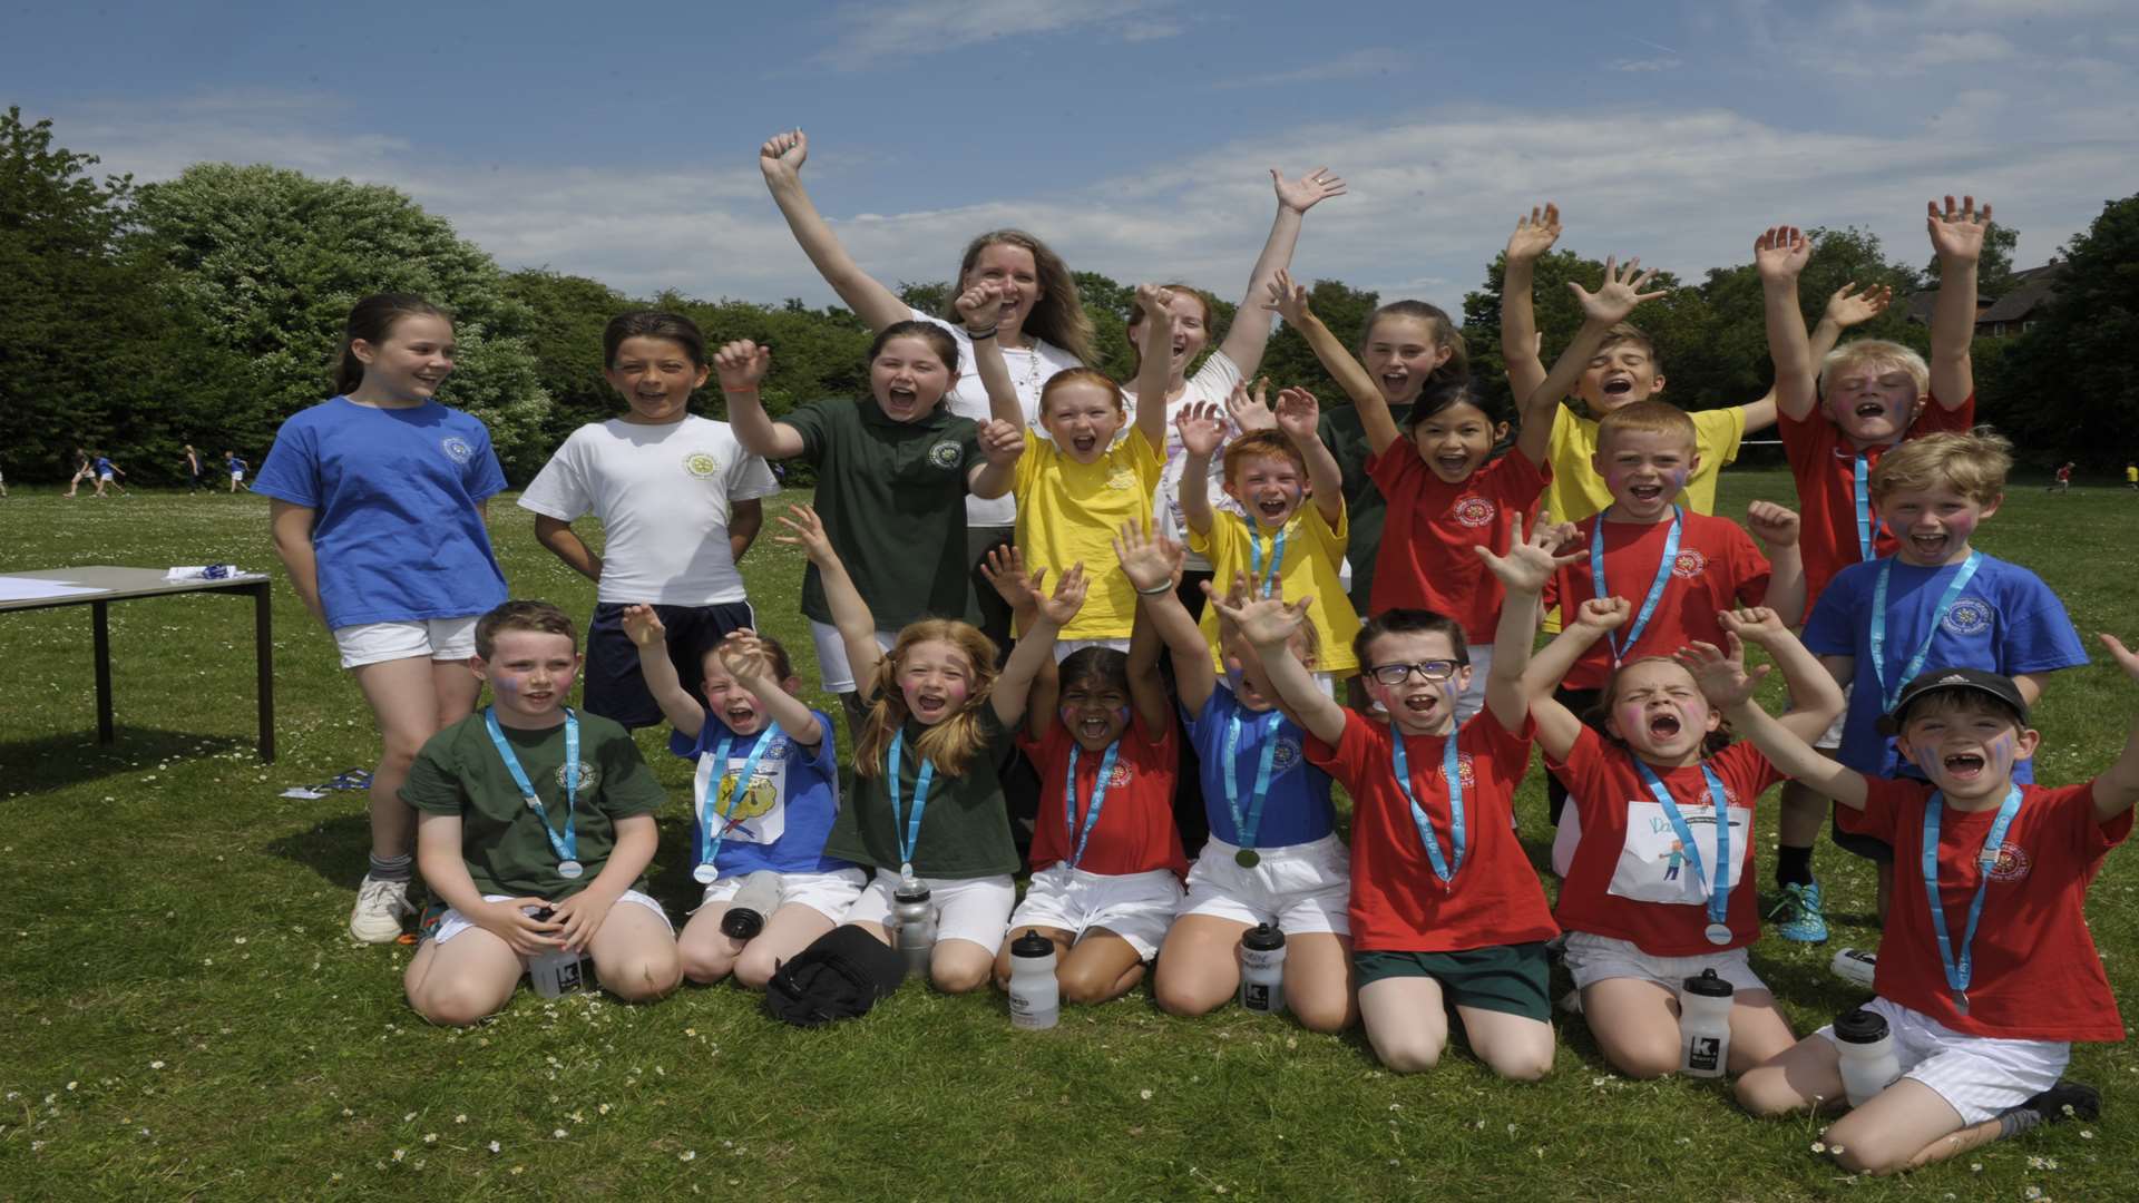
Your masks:
M 1048 569 L 1046 589 L 1084 565 L 1084 608 L 1065 640 L 1125 640 L 1136 625 L 1136 587 L 1114 561 L 1123 522 L 1151 520 L 1151 492 L 1166 465 L 1144 432 L 1129 428 L 1095 462 L 1080 465 L 1052 439 L 1027 432 L 1018 456 L 1018 550 L 1025 569 Z

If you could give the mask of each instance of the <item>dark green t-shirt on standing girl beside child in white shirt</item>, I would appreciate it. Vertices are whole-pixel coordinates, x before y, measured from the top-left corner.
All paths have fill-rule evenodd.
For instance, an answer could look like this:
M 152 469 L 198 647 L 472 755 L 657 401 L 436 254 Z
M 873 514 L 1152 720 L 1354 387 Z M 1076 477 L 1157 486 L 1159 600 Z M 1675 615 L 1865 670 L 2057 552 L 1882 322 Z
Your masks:
M 980 621 L 965 552 L 967 473 L 984 460 L 980 426 L 950 405 L 892 422 L 875 400 L 813 400 L 781 417 L 817 465 L 817 514 L 877 627 L 915 619 Z M 802 574 L 802 612 L 832 621 L 817 565 Z

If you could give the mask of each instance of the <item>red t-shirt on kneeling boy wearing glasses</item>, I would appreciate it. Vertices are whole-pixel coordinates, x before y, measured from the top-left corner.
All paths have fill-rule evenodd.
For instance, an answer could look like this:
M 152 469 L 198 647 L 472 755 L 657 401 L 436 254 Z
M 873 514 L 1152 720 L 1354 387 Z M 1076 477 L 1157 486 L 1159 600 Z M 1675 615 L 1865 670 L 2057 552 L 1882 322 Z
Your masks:
M 1343 738 L 1335 747 L 1313 736 L 1305 745 L 1307 762 L 1352 794 L 1352 946 L 1360 953 L 1459 953 L 1557 935 L 1538 871 L 1510 822 L 1514 788 L 1529 768 L 1529 724 L 1508 732 L 1493 711 L 1480 711 L 1457 732 L 1465 852 L 1446 886 L 1433 875 L 1412 803 L 1397 786 L 1392 738 L 1388 724 L 1345 711 Z M 1446 741 L 1433 736 L 1403 743 L 1412 790 L 1446 861 L 1452 835 L 1444 747 Z

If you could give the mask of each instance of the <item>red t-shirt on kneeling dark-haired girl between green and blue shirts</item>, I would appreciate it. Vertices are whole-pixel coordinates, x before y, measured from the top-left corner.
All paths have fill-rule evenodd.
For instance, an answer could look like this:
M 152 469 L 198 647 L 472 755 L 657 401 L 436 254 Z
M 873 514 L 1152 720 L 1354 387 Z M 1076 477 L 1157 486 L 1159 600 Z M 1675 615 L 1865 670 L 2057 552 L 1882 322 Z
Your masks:
M 1040 771 L 1040 818 L 1033 826 L 1033 869 L 1046 869 L 1057 861 L 1070 861 L 1076 852 L 1076 837 L 1063 833 L 1063 768 L 1070 764 L 1070 728 L 1050 724 L 1046 738 L 1031 738 L 1018 732 L 1018 747 L 1033 758 Z M 1076 758 L 1076 824 L 1084 828 L 1091 786 L 1099 779 L 1099 762 L 1106 751 L 1078 749 Z M 1149 873 L 1151 869 L 1172 869 L 1187 875 L 1189 858 L 1181 852 L 1181 833 L 1174 828 L 1174 777 L 1181 771 L 1181 751 L 1174 747 L 1174 724 L 1161 724 L 1157 732 L 1144 728 L 1142 719 L 1129 719 L 1121 732 L 1121 751 L 1114 756 L 1114 779 L 1106 788 L 1099 805 L 1099 822 L 1084 843 L 1084 858 L 1078 869 L 1087 873 Z

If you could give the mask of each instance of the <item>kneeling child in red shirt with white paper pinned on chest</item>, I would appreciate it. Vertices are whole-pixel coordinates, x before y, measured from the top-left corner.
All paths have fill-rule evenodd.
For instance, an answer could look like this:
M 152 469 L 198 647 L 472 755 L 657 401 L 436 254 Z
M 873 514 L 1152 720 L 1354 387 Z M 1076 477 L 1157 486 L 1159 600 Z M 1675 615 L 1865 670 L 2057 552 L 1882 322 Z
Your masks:
M 1489 561 L 1523 621 L 1538 612 L 1542 557 Z M 1790 1023 L 1752 972 L 1745 948 L 1760 938 L 1752 867 L 1754 803 L 1782 779 L 1756 747 L 1720 747 L 1728 736 L 1694 674 L 1666 655 L 1619 664 L 1598 698 L 1602 730 L 1553 698 L 1594 642 L 1626 627 L 1624 597 L 1587 597 L 1574 621 L 1529 657 L 1506 640 L 1502 657 L 1525 659 L 1521 683 L 1536 719 L 1544 764 L 1568 786 L 1581 841 L 1559 886 L 1566 965 L 1581 991 L 1604 1060 L 1636 1079 L 1679 1068 L 1679 987 L 1715 970 L 1733 987 L 1730 1072 L 1790 1047 Z M 1818 734 L 1842 709 L 1842 689 L 1769 608 L 1715 616 L 1733 657 L 1754 642 L 1790 685 L 1792 730 Z M 1506 621 L 1506 619 L 1504 619 Z M 1677 649 L 1673 649 L 1677 651 Z M 1493 664 L 1495 674 L 1512 664 Z

